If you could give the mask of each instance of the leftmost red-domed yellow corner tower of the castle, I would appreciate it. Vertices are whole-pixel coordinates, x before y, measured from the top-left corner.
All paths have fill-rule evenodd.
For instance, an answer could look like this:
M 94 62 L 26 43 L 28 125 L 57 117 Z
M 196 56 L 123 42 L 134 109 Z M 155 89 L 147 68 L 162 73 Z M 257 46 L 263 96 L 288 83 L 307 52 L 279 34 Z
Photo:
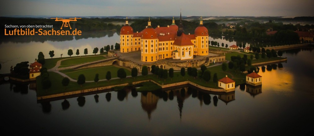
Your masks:
M 133 29 L 126 19 L 125 25 L 120 30 L 120 52 L 126 53 L 132 51 Z

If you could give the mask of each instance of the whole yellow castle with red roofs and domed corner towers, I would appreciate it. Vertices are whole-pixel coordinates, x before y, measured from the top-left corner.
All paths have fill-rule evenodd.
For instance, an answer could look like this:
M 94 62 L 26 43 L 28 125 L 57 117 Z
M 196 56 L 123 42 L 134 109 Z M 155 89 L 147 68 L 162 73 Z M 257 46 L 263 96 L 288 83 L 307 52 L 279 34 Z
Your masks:
M 173 60 L 193 59 L 193 55 L 208 55 L 208 30 L 203 26 L 201 18 L 199 26 L 194 34 L 184 34 L 182 17 L 180 24 L 172 24 L 167 27 L 152 28 L 149 19 L 148 26 L 141 32 L 133 32 L 133 28 L 125 25 L 120 31 L 120 52 L 127 53 L 141 51 L 141 61 L 155 62 L 157 60 L 171 58 Z

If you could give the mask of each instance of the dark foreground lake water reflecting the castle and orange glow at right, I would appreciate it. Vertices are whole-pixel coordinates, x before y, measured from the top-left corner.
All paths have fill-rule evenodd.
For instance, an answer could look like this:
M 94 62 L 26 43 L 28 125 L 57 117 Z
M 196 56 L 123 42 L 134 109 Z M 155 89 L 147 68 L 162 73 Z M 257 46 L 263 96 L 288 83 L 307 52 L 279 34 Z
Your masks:
M 99 93 L 37 103 L 32 85 L 0 85 L 5 135 L 312 135 L 313 48 L 288 50 L 287 63 L 262 71 L 263 85 L 214 95 L 183 87 L 165 92 Z M 279 66 L 279 67 L 278 67 Z M 267 66 L 266 66 L 267 67 Z M 271 70 L 271 71 L 270 71 Z M 97 97 L 98 96 L 98 97 Z M 6 134 L 8 133 L 8 134 Z

